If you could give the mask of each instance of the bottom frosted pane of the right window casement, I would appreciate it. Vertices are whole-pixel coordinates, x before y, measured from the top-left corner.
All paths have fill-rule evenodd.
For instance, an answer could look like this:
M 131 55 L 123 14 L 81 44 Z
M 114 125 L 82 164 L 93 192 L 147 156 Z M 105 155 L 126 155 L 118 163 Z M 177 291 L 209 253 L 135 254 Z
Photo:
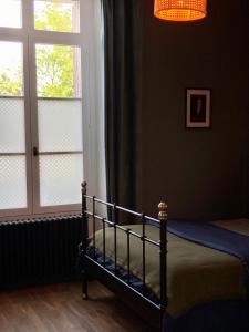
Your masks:
M 40 156 L 41 206 L 79 204 L 82 180 L 82 155 Z

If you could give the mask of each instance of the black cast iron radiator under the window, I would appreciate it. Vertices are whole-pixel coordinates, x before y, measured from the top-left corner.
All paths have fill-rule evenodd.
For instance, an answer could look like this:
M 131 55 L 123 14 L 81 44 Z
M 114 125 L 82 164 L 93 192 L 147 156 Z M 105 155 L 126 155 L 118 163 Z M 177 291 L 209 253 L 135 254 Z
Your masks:
M 0 222 L 0 288 L 76 277 L 80 215 Z

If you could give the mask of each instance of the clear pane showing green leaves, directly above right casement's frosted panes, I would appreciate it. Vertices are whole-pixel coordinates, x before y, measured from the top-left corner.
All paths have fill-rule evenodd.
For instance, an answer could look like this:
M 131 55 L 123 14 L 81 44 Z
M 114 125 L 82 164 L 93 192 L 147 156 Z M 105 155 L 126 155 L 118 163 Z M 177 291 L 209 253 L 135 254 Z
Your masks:
M 38 96 L 80 97 L 80 48 L 39 44 L 35 50 Z

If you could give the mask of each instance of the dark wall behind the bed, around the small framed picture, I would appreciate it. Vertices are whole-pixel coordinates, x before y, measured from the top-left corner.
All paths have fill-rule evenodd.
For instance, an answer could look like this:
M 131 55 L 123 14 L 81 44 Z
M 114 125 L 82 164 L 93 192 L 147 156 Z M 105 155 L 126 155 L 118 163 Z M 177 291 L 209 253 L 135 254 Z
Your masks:
M 155 215 L 240 216 L 248 201 L 249 25 L 247 0 L 208 0 L 208 17 L 168 23 L 143 0 L 139 194 Z M 185 89 L 211 89 L 211 128 L 185 128 Z

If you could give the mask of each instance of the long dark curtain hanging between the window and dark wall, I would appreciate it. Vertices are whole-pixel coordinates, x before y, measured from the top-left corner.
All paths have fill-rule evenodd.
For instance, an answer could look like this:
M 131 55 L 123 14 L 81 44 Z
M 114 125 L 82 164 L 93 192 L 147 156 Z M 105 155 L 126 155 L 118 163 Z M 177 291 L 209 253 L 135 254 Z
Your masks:
M 142 1 L 103 0 L 108 201 L 135 208 L 141 106 Z

